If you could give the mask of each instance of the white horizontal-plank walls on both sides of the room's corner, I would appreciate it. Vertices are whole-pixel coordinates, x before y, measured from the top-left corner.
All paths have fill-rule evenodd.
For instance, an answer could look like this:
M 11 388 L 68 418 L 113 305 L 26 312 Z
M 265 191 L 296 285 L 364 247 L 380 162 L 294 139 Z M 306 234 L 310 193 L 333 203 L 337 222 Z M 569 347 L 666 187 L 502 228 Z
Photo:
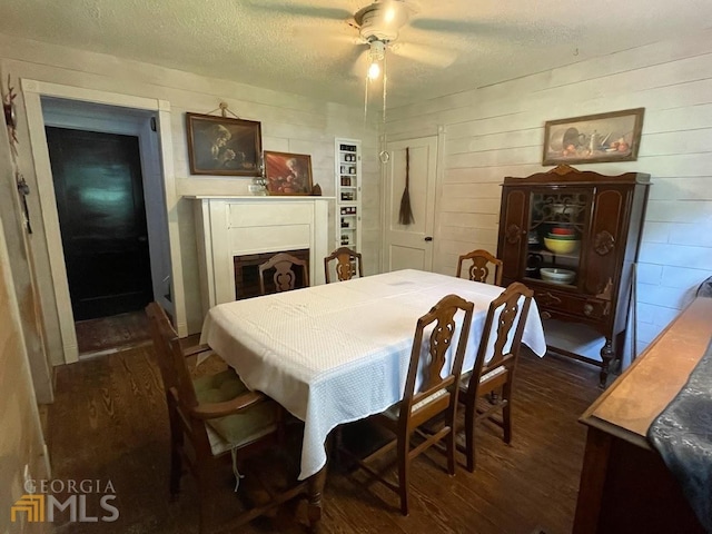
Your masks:
M 13 78 L 168 100 L 174 117 L 176 187 L 182 195 L 243 194 L 249 184 L 246 178 L 189 175 L 185 111 L 207 112 L 226 101 L 240 117 L 260 120 L 266 149 L 312 155 L 314 180 L 327 196 L 334 194 L 333 138 L 363 139 L 364 257 L 366 271 L 378 271 L 378 139 L 375 128 L 364 127 L 359 107 L 6 36 L 0 36 L 0 44 L 3 77 L 9 73 Z M 639 349 L 644 348 L 692 297 L 700 281 L 712 275 L 712 172 L 708 170 L 712 150 L 712 31 L 390 109 L 389 140 L 436 135 L 438 126 L 444 127 L 435 270 L 453 273 L 463 250 L 496 249 L 500 182 L 504 176 L 526 176 L 542 168 L 546 120 L 635 107 L 645 108 L 639 160 L 593 168 L 611 174 L 640 170 L 653 177 L 639 265 Z M 31 158 L 23 148 L 29 147 L 29 139 L 22 121 L 20 118 L 21 164 L 32 186 Z M 38 212 L 37 197 L 30 196 L 30 208 Z M 185 200 L 179 205 L 179 219 L 192 332 L 201 323 L 200 298 L 192 212 Z M 51 279 L 39 218 L 34 226 L 40 290 L 47 293 Z M 59 334 L 51 323 L 46 328 L 48 347 L 56 356 L 61 349 Z

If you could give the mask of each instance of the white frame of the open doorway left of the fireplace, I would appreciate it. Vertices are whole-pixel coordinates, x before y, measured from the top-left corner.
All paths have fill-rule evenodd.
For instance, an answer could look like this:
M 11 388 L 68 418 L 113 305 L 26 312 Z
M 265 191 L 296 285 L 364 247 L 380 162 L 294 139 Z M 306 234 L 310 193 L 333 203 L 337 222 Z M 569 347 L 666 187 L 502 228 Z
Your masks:
M 186 320 L 186 301 L 182 281 L 182 261 L 180 258 L 180 237 L 177 215 L 178 195 L 176 192 L 176 178 L 174 172 L 170 102 L 167 100 L 120 95 L 95 89 L 83 89 L 73 86 L 29 79 L 21 80 L 21 88 L 27 112 L 28 134 L 30 136 L 30 144 L 32 147 L 31 154 L 37 176 L 37 189 L 41 207 L 40 211 L 42 224 L 44 226 L 44 245 L 47 246 L 49 255 L 50 274 L 53 283 L 53 296 L 57 306 L 62 348 L 65 352 L 65 362 L 68 364 L 78 362 L 79 347 L 77 344 L 77 333 L 75 330 L 75 317 L 71 310 L 71 297 L 69 295 L 69 284 L 67 280 L 67 267 L 65 265 L 65 253 L 61 243 L 59 214 L 57 212 L 52 169 L 49 160 L 47 136 L 44 135 L 44 118 L 42 115 L 41 97 L 65 98 L 69 100 L 80 100 L 90 103 L 103 103 L 156 112 L 158 121 L 158 150 L 162 167 L 164 207 L 166 209 L 168 240 L 170 246 L 172 312 L 178 334 L 180 336 L 186 336 L 188 327 Z M 42 309 L 42 315 L 44 316 L 46 324 L 52 324 L 53 320 L 51 317 L 47 317 L 47 310 L 44 307 Z

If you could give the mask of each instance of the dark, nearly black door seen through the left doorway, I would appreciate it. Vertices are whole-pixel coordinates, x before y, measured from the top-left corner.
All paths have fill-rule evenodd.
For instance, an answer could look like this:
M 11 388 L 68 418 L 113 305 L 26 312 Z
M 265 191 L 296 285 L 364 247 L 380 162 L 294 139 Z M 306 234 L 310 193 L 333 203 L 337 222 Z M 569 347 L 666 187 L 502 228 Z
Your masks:
M 47 127 L 75 320 L 152 300 L 138 137 Z

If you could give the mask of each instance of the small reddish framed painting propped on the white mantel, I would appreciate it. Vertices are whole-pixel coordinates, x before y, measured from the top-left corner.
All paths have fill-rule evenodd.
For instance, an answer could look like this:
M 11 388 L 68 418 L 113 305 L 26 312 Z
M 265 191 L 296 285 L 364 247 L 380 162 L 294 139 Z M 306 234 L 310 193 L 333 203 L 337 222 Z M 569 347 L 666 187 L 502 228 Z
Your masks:
M 312 195 L 312 156 L 265 150 L 269 195 Z

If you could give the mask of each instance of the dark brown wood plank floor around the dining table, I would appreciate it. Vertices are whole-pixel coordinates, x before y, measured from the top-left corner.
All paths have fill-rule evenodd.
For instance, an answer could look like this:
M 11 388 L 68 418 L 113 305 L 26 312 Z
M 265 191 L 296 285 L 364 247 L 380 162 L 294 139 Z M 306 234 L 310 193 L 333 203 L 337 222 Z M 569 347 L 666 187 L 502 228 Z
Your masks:
M 115 523 L 56 522 L 57 532 L 197 532 L 198 496 L 190 476 L 184 477 L 180 498 L 168 500 L 168 418 L 152 358 L 151 347 L 144 346 L 57 369 L 57 400 L 48 411 L 53 477 L 110 479 L 120 513 Z M 200 372 L 219 365 L 208 363 Z M 585 438 L 576 419 L 600 394 L 597 368 L 527 353 L 517 375 L 511 446 L 494 428 L 481 428 L 477 471 L 469 474 L 461 466 L 454 477 L 445 473 L 439 453 L 418 457 L 407 517 L 398 513 L 394 493 L 378 484 L 364 487 L 334 466 L 322 532 L 571 532 Z M 229 490 L 227 498 L 235 498 Z M 304 505 L 287 506 L 239 532 L 305 532 Z

